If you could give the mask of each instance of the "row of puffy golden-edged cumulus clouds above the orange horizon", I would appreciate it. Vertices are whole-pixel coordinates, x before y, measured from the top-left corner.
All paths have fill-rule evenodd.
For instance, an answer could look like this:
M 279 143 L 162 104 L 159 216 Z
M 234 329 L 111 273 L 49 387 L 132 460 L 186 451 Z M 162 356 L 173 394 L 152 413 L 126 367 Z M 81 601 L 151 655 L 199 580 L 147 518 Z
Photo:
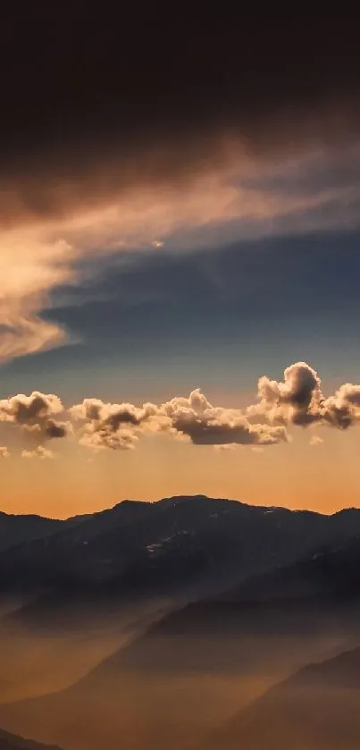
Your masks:
M 62 416 L 63 419 L 59 419 Z M 360 385 L 343 383 L 330 396 L 306 362 L 287 367 L 282 381 L 263 375 L 257 400 L 246 409 L 213 406 L 200 389 L 160 404 L 106 403 L 84 399 L 68 409 L 54 394 L 32 392 L 0 400 L 0 422 L 32 441 L 23 458 L 52 458 L 46 444 L 71 439 L 94 451 L 134 449 L 141 437 L 167 435 L 196 446 L 247 445 L 255 448 L 289 442 L 289 428 L 329 426 L 341 431 L 360 424 Z M 312 445 L 322 442 L 313 435 Z M 59 443 L 60 444 L 60 443 Z M 2 449 L 6 457 L 6 449 Z

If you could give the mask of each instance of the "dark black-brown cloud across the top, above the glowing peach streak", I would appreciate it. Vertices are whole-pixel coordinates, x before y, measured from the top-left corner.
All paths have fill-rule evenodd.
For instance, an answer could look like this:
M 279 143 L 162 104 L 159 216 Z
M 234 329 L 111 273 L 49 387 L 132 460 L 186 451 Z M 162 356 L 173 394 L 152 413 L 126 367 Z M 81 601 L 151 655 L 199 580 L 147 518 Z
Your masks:
M 258 156 L 358 127 L 354 13 L 218 8 L 197 24 L 37 3 L 7 12 L 1 42 L 4 222 L 186 181 L 224 158 L 222 134 Z

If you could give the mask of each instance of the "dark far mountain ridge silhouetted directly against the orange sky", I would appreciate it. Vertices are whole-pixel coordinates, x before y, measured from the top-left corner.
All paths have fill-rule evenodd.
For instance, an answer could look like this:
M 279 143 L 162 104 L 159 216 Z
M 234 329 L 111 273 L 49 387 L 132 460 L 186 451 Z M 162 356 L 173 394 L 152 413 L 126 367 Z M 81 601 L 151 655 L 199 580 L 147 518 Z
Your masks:
M 59 523 L 0 552 L 0 592 L 41 593 L 18 618 L 139 596 L 196 601 L 360 537 L 360 510 L 324 516 L 204 495 L 123 501 Z

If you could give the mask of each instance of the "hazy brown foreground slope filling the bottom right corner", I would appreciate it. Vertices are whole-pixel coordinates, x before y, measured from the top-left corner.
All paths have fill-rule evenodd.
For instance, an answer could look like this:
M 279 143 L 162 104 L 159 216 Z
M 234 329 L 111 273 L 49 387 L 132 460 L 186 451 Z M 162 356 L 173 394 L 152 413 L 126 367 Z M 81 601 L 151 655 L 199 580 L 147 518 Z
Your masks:
M 309 665 L 272 687 L 209 737 L 201 750 L 356 750 L 359 738 L 356 649 Z

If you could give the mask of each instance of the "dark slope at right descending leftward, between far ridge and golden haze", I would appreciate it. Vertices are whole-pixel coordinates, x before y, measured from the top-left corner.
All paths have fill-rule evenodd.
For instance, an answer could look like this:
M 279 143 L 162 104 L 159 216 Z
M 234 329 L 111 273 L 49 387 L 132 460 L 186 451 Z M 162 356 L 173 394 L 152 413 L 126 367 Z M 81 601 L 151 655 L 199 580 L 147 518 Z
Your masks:
M 328 552 L 247 577 L 238 586 L 173 611 L 158 636 L 360 630 L 360 537 Z

